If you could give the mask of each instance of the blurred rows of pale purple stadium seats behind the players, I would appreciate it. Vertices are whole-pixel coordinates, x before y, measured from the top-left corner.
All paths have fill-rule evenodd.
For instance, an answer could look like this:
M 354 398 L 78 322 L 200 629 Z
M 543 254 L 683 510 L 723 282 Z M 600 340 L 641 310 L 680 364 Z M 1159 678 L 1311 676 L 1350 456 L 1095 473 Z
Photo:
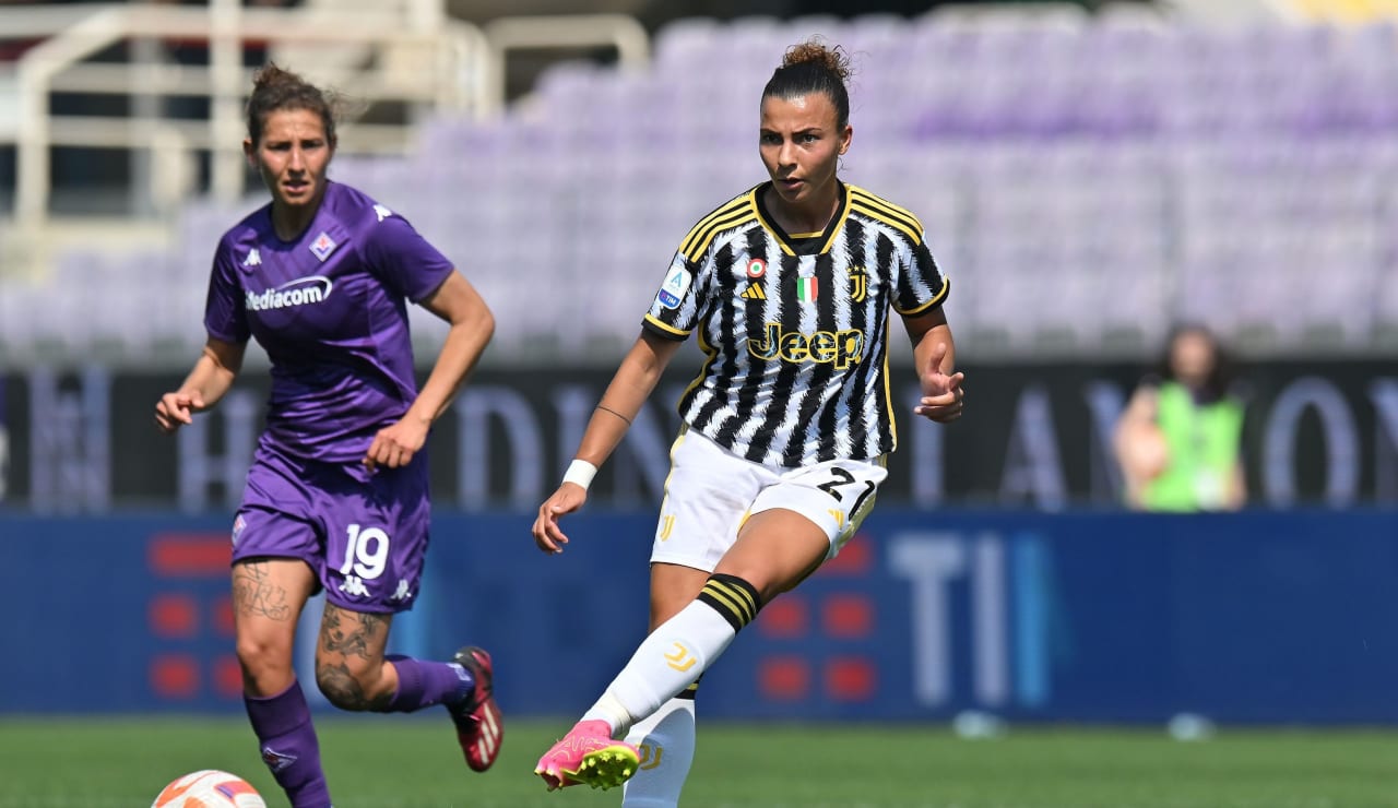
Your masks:
M 1398 333 L 1398 28 L 1211 31 L 1151 14 L 681 20 L 644 73 L 563 63 L 500 120 L 431 120 L 412 157 L 343 154 L 333 176 L 459 257 L 500 309 L 502 352 L 624 344 L 684 232 L 763 179 L 762 85 L 819 32 L 858 68 L 844 176 L 924 221 L 969 334 L 1035 351 L 1053 331 L 1090 349 L 1121 331 L 1149 344 L 1177 316 L 1278 349 L 1316 330 L 1345 347 Z M 192 200 L 165 261 L 77 256 L 35 289 L 0 288 L 0 341 L 60 338 L 28 316 L 53 284 L 145 270 L 168 277 L 148 288 L 166 289 L 169 313 L 133 338 L 197 333 L 212 243 L 260 204 Z M 521 219 L 533 252 L 513 235 Z M 524 263 L 554 294 L 498 271 Z M 120 329 L 82 315 L 119 299 L 116 284 L 87 288 L 69 315 Z M 563 320 L 583 341 L 548 334 Z

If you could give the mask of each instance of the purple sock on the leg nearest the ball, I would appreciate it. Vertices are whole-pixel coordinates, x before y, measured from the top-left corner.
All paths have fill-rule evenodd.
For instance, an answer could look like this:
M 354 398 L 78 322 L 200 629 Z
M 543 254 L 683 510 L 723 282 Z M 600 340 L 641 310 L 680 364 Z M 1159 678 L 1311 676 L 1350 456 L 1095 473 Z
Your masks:
M 287 791 L 292 808 L 329 808 L 330 788 L 320 770 L 320 742 L 310 724 L 310 706 L 298 682 L 275 696 L 243 695 L 247 719 L 261 746 L 263 762 Z

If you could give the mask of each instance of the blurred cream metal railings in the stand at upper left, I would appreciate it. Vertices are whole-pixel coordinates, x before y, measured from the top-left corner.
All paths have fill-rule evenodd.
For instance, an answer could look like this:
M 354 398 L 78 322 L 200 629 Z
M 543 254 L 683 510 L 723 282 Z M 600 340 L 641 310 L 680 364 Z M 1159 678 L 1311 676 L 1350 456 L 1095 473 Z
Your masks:
M 429 13 L 432 8 L 436 13 Z M 647 36 L 624 15 L 502 18 L 488 31 L 445 17 L 436 0 L 412 3 L 408 13 L 387 8 L 243 8 L 238 0 L 212 0 L 203 8 L 169 6 L 78 6 L 56 11 L 0 10 L 0 39 L 39 38 L 13 74 L 17 119 L 15 219 L 27 231 L 41 228 L 49 215 L 50 148 L 150 150 L 152 199 L 179 201 L 187 189 L 179 182 L 182 159 L 193 151 L 212 154 L 211 192 L 233 200 L 243 190 L 245 172 L 238 159 L 242 140 L 242 102 L 250 81 L 243 67 L 243 46 L 256 42 L 270 49 L 343 46 L 361 49 L 359 64 L 337 64 L 336 84 L 354 88 L 356 99 L 396 101 L 432 113 L 498 115 L 505 105 L 503 71 L 507 53 L 516 49 L 612 46 L 624 66 L 643 64 Z M 172 66 L 141 59 L 130 63 L 85 63 L 123 41 L 192 39 L 208 43 L 208 64 Z M 147 55 L 150 49 L 145 49 Z M 313 81 L 330 66 L 294 64 Z M 4 80 L 0 78 L 0 85 Z M 133 99 L 207 96 L 208 120 L 175 120 L 148 112 L 151 103 L 130 117 L 85 115 L 57 116 L 50 94 L 81 92 L 124 95 Z M 350 152 L 407 151 L 414 120 L 401 124 L 354 122 L 341 133 L 341 150 Z M 6 137 L 0 129 L 0 138 Z M 187 172 L 183 172 L 187 173 Z

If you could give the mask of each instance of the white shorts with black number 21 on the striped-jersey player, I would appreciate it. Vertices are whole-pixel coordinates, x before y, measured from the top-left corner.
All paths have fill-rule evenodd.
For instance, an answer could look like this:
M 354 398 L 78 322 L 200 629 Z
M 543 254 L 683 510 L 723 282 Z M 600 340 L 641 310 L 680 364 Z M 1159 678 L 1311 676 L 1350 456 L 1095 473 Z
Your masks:
M 670 477 L 650 561 L 713 572 L 748 517 L 774 507 L 819 526 L 830 540 L 825 558 L 835 558 L 874 507 L 885 477 L 882 457 L 770 468 L 684 429 L 670 449 Z

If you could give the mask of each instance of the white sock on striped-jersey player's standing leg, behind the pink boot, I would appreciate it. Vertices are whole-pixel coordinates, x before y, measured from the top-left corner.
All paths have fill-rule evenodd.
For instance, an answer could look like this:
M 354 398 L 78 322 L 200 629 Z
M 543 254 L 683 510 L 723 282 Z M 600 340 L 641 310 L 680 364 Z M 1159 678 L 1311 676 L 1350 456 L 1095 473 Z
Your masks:
M 640 748 L 640 767 L 624 786 L 622 808 L 675 808 L 695 759 L 693 698 L 670 699 L 626 742 Z

